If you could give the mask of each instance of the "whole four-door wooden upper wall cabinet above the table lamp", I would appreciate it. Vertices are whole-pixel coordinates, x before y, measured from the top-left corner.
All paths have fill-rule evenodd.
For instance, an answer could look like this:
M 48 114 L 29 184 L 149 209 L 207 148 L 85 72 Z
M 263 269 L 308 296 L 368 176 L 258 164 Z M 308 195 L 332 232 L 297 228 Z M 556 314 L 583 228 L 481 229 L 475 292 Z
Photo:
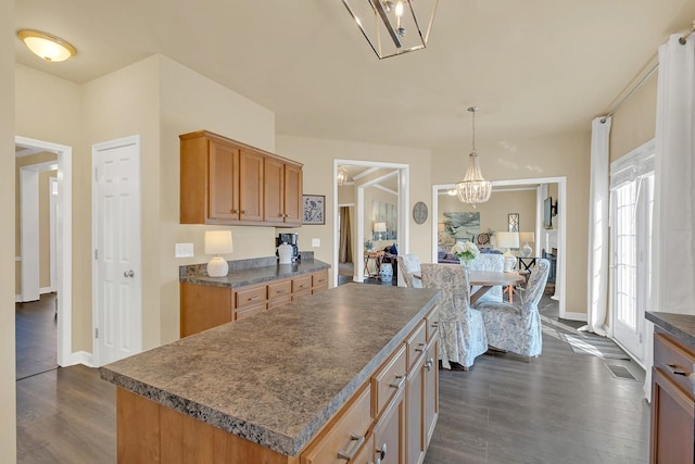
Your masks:
M 200 130 L 181 140 L 181 224 L 301 225 L 302 165 Z

